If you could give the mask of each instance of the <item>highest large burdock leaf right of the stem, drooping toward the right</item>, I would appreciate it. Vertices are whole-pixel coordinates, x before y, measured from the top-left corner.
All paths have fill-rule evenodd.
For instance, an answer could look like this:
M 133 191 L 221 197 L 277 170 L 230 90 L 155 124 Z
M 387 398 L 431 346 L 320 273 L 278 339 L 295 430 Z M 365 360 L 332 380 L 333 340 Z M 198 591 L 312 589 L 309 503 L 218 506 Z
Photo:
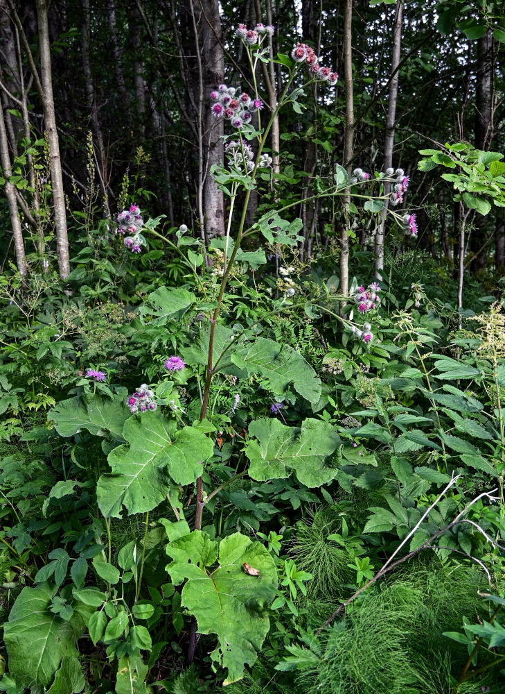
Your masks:
M 317 403 L 321 397 L 321 381 L 312 366 L 292 347 L 278 345 L 260 337 L 256 342 L 238 348 L 231 361 L 247 375 L 259 373 L 267 378 L 276 396 L 282 396 L 292 384 L 302 398 Z

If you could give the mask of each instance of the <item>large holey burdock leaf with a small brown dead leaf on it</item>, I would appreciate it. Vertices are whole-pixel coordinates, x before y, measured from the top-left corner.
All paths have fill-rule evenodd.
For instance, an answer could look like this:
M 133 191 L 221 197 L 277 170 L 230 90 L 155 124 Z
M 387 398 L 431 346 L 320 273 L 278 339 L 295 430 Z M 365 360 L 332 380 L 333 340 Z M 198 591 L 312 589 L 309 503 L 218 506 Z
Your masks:
M 215 663 L 228 669 L 224 684 L 236 682 L 253 665 L 269 629 L 261 610 L 274 598 L 277 572 L 265 547 L 236 532 L 219 545 L 195 530 L 170 542 L 167 571 L 174 584 L 186 579 L 181 602 L 195 616 L 200 634 L 216 634 Z M 191 563 L 190 563 L 191 562 Z M 244 564 L 259 575 L 245 573 Z

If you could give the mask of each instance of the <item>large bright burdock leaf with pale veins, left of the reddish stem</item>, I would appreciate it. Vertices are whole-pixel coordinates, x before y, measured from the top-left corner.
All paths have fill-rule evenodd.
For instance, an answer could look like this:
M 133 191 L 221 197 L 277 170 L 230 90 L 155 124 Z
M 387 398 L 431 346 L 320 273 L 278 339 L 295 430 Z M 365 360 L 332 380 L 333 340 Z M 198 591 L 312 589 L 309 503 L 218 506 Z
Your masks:
M 176 430 L 177 424 L 159 411 L 144 412 L 125 423 L 128 444 L 109 453 L 112 473 L 98 480 L 98 506 L 105 518 L 151 511 L 165 498 L 170 480 L 191 484 L 202 474 L 202 463 L 213 454 L 209 437 L 193 427 Z

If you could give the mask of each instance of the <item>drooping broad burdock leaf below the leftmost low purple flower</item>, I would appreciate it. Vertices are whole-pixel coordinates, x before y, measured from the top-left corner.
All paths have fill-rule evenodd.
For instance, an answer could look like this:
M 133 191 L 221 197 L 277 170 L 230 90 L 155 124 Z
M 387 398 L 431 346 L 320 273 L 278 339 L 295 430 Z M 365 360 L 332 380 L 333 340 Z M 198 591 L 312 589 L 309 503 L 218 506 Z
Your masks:
M 100 393 L 82 393 L 58 403 L 49 412 L 48 420 L 55 423 L 55 430 L 62 437 L 71 437 L 86 429 L 95 436 L 124 441 L 123 425 L 131 416 L 126 407 L 127 394 L 126 388 L 119 388 L 111 400 Z

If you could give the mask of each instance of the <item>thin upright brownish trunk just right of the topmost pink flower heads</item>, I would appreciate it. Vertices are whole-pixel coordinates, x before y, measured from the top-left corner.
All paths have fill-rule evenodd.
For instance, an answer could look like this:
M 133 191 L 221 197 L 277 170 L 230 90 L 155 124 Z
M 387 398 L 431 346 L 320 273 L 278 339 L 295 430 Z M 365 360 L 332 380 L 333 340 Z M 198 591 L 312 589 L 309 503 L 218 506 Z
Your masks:
M 346 128 L 344 131 L 344 166 L 351 174 L 354 157 L 354 94 L 353 94 L 353 0 L 345 0 L 344 11 L 344 84 L 346 91 Z M 349 208 L 351 191 L 344 195 L 344 223 L 340 232 L 340 291 L 347 296 L 349 291 Z

